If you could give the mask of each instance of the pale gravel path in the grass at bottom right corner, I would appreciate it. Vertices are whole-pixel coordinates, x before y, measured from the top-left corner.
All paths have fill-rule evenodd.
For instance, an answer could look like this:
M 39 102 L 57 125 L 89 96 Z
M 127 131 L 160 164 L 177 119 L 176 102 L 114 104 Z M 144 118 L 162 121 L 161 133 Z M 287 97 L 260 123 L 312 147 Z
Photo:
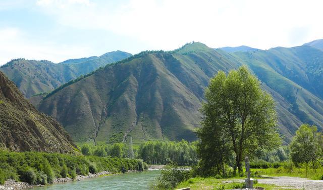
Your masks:
M 274 184 L 284 187 L 295 187 L 296 189 L 322 190 L 323 180 L 311 180 L 300 177 L 271 177 L 258 179 L 259 183 Z

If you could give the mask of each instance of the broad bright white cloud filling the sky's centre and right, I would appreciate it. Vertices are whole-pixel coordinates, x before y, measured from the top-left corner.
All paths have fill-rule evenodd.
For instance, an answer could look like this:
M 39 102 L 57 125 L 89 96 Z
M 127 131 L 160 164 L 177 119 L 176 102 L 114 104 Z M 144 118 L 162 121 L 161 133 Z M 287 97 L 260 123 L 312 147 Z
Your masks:
M 303 40 L 323 33 L 320 1 L 131 0 L 87 2 L 86 7 L 60 5 L 51 4 L 46 11 L 52 10 L 62 25 L 112 31 L 156 49 L 174 49 L 191 40 L 210 46 L 246 44 L 265 49 L 296 45 L 299 40 L 291 36 L 298 36 L 295 32 L 300 30 L 294 28 L 308 31 L 303 32 Z

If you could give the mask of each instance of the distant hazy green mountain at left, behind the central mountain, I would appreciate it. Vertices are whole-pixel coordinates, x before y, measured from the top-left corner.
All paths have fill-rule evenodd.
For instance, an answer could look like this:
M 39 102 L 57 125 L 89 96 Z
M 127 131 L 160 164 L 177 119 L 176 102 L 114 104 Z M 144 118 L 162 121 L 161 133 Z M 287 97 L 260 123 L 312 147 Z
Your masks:
M 30 98 L 51 91 L 60 85 L 90 73 L 97 68 L 131 56 L 126 52 L 111 52 L 100 57 L 67 60 L 60 64 L 49 61 L 13 60 L 0 68 Z

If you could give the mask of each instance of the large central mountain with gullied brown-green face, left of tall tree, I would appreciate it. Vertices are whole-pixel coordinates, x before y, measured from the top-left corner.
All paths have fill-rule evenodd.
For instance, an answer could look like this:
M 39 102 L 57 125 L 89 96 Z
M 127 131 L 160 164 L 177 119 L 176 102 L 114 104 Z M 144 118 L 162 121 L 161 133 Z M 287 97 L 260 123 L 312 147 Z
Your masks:
M 43 100 L 39 110 L 77 141 L 121 141 L 129 135 L 193 140 L 209 78 L 238 66 L 233 56 L 201 43 L 172 53 L 146 52 L 66 86 Z

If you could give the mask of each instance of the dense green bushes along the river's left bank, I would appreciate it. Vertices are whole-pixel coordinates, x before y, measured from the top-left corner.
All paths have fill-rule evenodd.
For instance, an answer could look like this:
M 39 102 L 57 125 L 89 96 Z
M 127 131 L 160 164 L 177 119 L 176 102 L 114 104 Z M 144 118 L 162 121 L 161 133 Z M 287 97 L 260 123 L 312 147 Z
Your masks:
M 6 183 L 7 187 L 16 185 L 15 181 L 45 185 L 147 169 L 148 165 L 137 159 L 0 151 L 0 185 Z

